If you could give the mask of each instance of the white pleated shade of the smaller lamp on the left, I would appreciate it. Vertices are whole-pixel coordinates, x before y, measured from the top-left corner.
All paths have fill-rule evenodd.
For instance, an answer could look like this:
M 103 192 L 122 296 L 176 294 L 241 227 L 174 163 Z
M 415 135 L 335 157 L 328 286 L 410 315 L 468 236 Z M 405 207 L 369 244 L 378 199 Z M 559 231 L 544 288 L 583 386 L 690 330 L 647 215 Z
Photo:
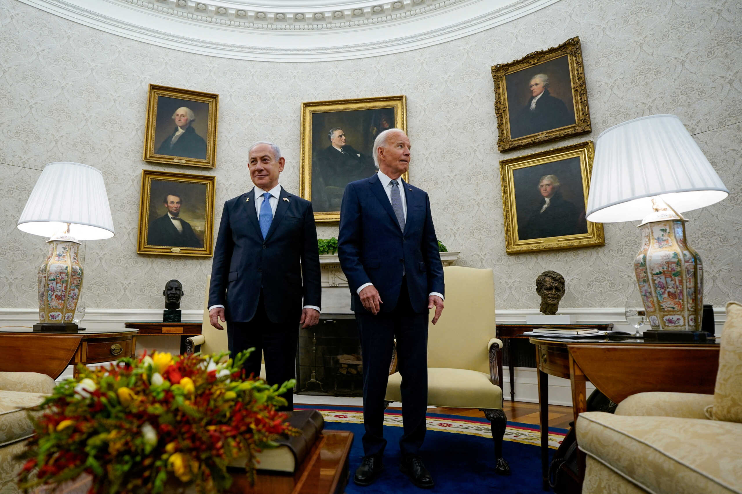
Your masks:
M 78 240 L 114 236 L 114 219 L 100 170 L 81 163 L 50 163 L 33 186 L 18 228 L 50 237 L 65 231 L 68 223 L 70 235 Z

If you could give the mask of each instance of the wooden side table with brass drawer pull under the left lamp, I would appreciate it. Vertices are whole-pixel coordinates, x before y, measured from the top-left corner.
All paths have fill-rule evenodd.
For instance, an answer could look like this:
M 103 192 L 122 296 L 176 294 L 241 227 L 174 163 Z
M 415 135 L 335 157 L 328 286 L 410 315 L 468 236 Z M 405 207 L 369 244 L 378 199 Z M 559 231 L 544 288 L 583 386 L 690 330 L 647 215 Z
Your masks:
M 68 365 L 98 364 L 131 357 L 137 330 L 85 330 L 79 333 L 0 332 L 0 370 L 42 373 L 56 379 Z

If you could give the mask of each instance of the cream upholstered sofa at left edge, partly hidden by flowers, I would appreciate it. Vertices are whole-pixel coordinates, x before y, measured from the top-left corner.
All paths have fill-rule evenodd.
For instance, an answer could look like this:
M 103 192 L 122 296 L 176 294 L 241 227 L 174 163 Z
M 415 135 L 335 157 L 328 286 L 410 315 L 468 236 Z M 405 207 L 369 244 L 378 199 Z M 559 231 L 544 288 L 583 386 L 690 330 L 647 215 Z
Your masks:
M 27 408 L 40 404 L 54 390 L 54 380 L 39 373 L 0 372 L 0 494 L 19 493 L 16 475 L 22 467 L 13 459 L 33 435 Z

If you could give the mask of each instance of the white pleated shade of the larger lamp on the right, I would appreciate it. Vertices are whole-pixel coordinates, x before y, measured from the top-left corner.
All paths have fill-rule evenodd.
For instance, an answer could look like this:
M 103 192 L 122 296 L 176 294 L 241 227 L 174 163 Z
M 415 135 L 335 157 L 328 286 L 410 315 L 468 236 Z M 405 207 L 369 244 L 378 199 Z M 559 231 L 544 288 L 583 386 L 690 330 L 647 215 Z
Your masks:
M 653 211 L 656 196 L 682 213 L 721 201 L 729 190 L 677 116 L 646 116 L 601 133 L 587 219 L 639 220 Z

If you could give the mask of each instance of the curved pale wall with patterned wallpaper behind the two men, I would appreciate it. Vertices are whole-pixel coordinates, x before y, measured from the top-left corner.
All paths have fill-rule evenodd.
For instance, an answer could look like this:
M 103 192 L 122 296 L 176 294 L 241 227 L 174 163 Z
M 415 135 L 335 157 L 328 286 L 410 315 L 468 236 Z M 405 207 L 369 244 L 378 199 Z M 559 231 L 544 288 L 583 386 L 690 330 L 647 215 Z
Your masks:
M 252 184 L 245 156 L 272 140 L 286 156 L 281 183 L 298 191 L 302 101 L 407 95 L 410 181 L 430 193 L 436 230 L 459 264 L 493 267 L 498 309 L 534 309 L 535 279 L 567 280 L 562 307 L 622 307 L 639 237 L 606 224 L 605 247 L 508 256 L 499 159 L 596 138 L 637 116 L 680 116 L 732 196 L 690 212 L 706 300 L 742 299 L 742 29 L 733 1 L 562 0 L 482 33 L 407 53 L 280 63 L 157 47 L 0 0 L 0 307 L 34 307 L 43 240 L 16 221 L 44 164 L 102 170 L 116 236 L 85 246 L 85 304 L 158 309 L 165 281 L 183 281 L 183 309 L 200 309 L 210 259 L 136 253 L 142 168 L 217 176 L 217 205 Z M 490 66 L 580 36 L 594 132 L 510 153 L 496 151 Z M 220 94 L 217 168 L 141 160 L 147 84 Z M 218 225 L 220 207 L 217 207 Z M 337 227 L 318 228 L 321 238 Z

